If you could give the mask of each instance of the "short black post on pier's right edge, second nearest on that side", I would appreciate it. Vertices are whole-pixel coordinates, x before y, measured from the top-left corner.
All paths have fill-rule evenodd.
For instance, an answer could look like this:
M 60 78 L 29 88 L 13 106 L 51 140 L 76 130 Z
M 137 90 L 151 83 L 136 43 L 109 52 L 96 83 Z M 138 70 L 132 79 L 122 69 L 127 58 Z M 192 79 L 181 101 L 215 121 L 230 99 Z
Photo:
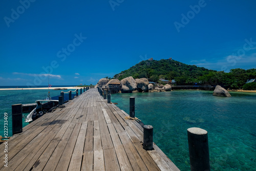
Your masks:
M 143 126 L 143 148 L 145 150 L 152 150 L 153 148 L 153 126 Z

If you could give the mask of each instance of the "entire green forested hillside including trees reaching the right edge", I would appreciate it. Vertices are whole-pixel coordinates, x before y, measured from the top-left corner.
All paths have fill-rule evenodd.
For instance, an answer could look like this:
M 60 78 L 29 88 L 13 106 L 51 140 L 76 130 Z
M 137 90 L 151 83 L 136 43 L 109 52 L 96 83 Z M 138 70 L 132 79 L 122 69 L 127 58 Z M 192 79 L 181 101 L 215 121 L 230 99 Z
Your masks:
M 175 79 L 177 84 L 207 84 L 215 86 L 219 84 L 225 89 L 243 88 L 248 79 L 256 78 L 256 69 L 231 69 L 229 73 L 224 71 L 208 70 L 195 65 L 172 60 L 143 60 L 128 70 L 114 75 L 119 80 L 132 76 L 136 78 L 148 78 L 150 81 L 159 82 L 160 78 Z M 249 89 L 247 86 L 244 89 Z M 251 89 L 251 88 L 250 88 Z

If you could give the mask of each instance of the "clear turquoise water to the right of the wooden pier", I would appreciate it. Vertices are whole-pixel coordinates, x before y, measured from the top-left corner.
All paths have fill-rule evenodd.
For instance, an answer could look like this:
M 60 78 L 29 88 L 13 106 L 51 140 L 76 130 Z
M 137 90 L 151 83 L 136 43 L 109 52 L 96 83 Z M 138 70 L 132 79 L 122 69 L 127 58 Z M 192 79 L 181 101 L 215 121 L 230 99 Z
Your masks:
M 212 91 L 113 94 L 112 102 L 129 114 L 129 97 L 136 101 L 135 116 L 154 127 L 154 142 L 180 168 L 190 170 L 187 129 L 208 132 L 211 170 L 256 170 L 256 93 Z

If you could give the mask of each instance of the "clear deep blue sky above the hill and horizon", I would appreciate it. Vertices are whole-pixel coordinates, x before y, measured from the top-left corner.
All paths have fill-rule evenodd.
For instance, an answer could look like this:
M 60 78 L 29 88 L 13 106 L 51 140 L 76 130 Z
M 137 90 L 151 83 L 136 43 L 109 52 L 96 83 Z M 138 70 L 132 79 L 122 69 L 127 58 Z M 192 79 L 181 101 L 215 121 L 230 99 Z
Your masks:
M 0 2 L 0 86 L 95 84 L 141 60 L 256 67 L 255 1 Z M 50 66 L 50 68 L 49 68 Z

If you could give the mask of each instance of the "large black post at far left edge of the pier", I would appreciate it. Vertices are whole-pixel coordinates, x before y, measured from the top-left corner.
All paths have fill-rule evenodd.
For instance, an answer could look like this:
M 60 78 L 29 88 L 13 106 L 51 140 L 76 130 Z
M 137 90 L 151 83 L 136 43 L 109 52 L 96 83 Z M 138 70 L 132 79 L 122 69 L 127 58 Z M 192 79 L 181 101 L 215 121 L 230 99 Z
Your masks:
M 22 133 L 22 104 L 12 105 L 12 135 Z

